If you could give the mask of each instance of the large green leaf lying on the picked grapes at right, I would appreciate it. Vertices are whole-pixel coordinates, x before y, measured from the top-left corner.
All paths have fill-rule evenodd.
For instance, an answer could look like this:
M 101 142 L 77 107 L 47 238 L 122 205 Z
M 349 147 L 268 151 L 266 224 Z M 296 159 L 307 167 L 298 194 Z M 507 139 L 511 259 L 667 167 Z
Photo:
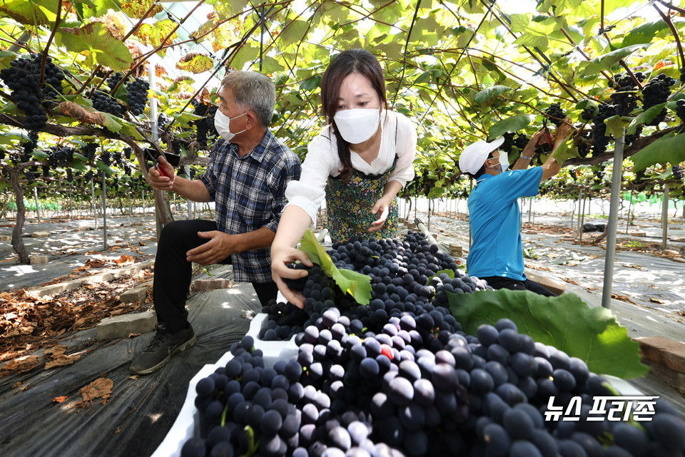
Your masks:
M 529 291 L 484 290 L 473 294 L 447 292 L 450 312 L 467 334 L 480 324 L 494 325 L 507 317 L 519 332 L 583 359 L 591 371 L 631 379 L 649 371 L 640 362 L 640 345 L 628 337 L 616 317 L 603 307 L 589 307 L 576 294 L 543 297 Z

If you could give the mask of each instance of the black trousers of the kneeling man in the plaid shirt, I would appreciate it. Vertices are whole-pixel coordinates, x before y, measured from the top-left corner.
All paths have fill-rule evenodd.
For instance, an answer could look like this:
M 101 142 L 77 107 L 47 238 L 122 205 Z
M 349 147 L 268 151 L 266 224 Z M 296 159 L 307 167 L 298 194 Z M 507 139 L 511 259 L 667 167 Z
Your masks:
M 177 220 L 165 225 L 160 233 L 153 280 L 155 312 L 157 321 L 171 332 L 178 332 L 188 322 L 186 298 L 193 267 L 186 260 L 186 252 L 209 241 L 198 237 L 198 232 L 212 230 L 216 230 L 216 222 L 212 220 Z M 230 264 L 230 257 L 220 263 Z M 262 306 L 276 298 L 275 282 L 252 284 Z

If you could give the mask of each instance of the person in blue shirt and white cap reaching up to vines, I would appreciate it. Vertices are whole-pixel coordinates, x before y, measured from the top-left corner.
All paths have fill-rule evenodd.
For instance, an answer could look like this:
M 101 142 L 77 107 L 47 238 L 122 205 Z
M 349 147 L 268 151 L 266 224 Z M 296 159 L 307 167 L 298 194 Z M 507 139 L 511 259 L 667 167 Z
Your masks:
M 504 142 L 477 141 L 462 152 L 459 168 L 475 179 L 469 195 L 472 245 L 467 257 L 470 276 L 485 279 L 494 289 L 530 290 L 546 296 L 554 293 L 527 279 L 521 242 L 521 215 L 517 200 L 539 192 L 540 183 L 559 173 L 562 165 L 552 157 L 573 127 L 564 122 L 554 136 L 552 153 L 544 164 L 528 168 L 535 145 L 544 130 L 534 133 L 512 170 L 507 171 L 507 153 L 499 151 Z

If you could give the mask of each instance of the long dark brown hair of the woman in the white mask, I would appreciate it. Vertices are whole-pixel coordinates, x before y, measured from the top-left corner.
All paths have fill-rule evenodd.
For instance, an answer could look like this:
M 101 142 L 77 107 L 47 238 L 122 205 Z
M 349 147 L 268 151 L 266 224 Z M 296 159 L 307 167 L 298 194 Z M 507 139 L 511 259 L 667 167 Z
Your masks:
M 380 98 L 381 106 L 387 108 L 385 96 L 385 77 L 380 63 L 375 56 L 365 49 L 350 49 L 342 51 L 333 58 L 321 79 L 321 103 L 326 122 L 332 125 L 331 131 L 335 135 L 338 144 L 338 157 L 342 163 L 340 176 L 347 179 L 352 173 L 352 158 L 350 158 L 350 143 L 347 143 L 338 132 L 335 125 L 335 113 L 338 111 L 340 98 L 340 86 L 342 81 L 352 73 L 365 76 L 371 83 L 371 87 Z

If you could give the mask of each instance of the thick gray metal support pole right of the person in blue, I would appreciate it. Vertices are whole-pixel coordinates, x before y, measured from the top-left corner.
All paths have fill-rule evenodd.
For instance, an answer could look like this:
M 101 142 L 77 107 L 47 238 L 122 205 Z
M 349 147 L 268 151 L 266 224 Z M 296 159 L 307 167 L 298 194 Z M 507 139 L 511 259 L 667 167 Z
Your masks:
M 614 145 L 614 171 L 612 173 L 612 203 L 609 206 L 609 223 L 607 232 L 607 250 L 604 256 L 604 287 L 602 288 L 602 307 L 609 309 L 612 305 L 612 285 L 614 282 L 614 255 L 616 254 L 616 234 L 619 222 L 619 195 L 621 194 L 621 175 L 623 175 L 624 136 L 616 139 Z

